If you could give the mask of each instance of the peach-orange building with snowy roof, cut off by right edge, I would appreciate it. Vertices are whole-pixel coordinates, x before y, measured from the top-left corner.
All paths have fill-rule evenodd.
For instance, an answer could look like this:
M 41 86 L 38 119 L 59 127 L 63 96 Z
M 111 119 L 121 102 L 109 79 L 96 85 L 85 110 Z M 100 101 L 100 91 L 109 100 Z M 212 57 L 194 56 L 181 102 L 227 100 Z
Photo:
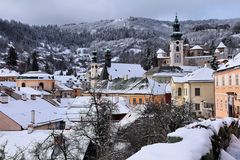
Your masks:
M 214 73 L 216 117 L 240 115 L 240 54 L 222 65 Z

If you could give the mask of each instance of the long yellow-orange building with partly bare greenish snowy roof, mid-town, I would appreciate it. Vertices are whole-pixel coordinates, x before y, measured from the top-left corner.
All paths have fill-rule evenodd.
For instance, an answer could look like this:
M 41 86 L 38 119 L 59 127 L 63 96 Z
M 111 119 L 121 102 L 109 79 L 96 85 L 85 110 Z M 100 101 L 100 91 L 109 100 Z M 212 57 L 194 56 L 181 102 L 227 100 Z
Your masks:
M 150 78 L 134 77 L 103 81 L 102 84 L 97 86 L 95 92 L 106 97 L 124 97 L 130 105 L 136 106 L 148 102 L 155 104 L 170 103 L 170 90 L 168 84 L 158 83 Z M 89 96 L 89 93 L 83 93 L 83 96 Z

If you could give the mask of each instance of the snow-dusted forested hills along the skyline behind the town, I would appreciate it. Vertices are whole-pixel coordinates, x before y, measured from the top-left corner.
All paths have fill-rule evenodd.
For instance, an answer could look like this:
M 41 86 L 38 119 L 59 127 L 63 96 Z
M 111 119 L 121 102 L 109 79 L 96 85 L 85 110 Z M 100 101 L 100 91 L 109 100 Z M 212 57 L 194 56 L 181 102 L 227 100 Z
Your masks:
M 207 42 L 217 45 L 223 40 L 232 48 L 240 45 L 240 19 L 189 20 L 180 23 L 184 38 L 191 44 Z M 129 51 L 135 54 L 147 47 L 168 50 L 171 32 L 171 21 L 136 17 L 63 26 L 30 26 L 0 19 L 0 51 L 4 52 L 12 41 L 20 52 L 31 51 L 45 44 L 46 50 L 50 51 L 52 47 L 68 48 L 73 52 L 79 47 L 111 48 L 114 56 L 121 57 Z

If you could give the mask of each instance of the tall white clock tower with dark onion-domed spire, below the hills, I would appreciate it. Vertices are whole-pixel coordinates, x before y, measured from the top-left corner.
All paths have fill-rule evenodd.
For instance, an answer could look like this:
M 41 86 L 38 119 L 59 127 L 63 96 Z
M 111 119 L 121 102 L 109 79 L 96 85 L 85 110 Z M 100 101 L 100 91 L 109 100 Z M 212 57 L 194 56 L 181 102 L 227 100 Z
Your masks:
M 173 23 L 173 34 L 170 41 L 170 66 L 183 66 L 183 39 L 177 16 Z

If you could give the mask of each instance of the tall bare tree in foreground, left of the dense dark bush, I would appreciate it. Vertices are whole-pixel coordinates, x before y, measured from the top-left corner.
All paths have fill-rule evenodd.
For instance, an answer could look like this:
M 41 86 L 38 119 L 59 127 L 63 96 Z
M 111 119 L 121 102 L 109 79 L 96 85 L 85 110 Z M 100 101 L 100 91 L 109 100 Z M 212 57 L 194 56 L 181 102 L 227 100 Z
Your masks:
M 115 104 L 99 93 L 91 93 L 89 112 L 75 128 L 78 136 L 83 136 L 92 144 L 92 153 L 86 159 L 111 159 L 114 123 L 112 113 Z

